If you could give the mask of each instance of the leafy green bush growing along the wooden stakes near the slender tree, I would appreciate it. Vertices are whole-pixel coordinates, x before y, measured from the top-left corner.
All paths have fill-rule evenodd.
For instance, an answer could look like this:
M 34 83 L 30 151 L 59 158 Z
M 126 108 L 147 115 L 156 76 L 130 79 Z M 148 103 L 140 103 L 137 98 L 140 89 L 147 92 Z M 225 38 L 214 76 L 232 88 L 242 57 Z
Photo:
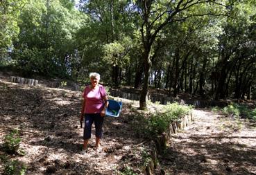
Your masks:
M 167 104 L 162 113 L 155 113 L 148 119 L 148 130 L 153 135 L 166 131 L 171 122 L 178 121 L 189 114 L 191 107 L 182 106 L 178 103 Z

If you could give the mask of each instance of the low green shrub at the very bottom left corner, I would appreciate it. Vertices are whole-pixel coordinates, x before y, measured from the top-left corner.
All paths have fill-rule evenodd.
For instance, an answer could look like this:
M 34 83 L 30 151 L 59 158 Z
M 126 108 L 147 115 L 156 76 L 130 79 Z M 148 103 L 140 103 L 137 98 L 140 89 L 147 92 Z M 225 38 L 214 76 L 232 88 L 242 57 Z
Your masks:
M 3 175 L 24 175 L 26 166 L 18 160 L 8 161 L 4 167 Z

